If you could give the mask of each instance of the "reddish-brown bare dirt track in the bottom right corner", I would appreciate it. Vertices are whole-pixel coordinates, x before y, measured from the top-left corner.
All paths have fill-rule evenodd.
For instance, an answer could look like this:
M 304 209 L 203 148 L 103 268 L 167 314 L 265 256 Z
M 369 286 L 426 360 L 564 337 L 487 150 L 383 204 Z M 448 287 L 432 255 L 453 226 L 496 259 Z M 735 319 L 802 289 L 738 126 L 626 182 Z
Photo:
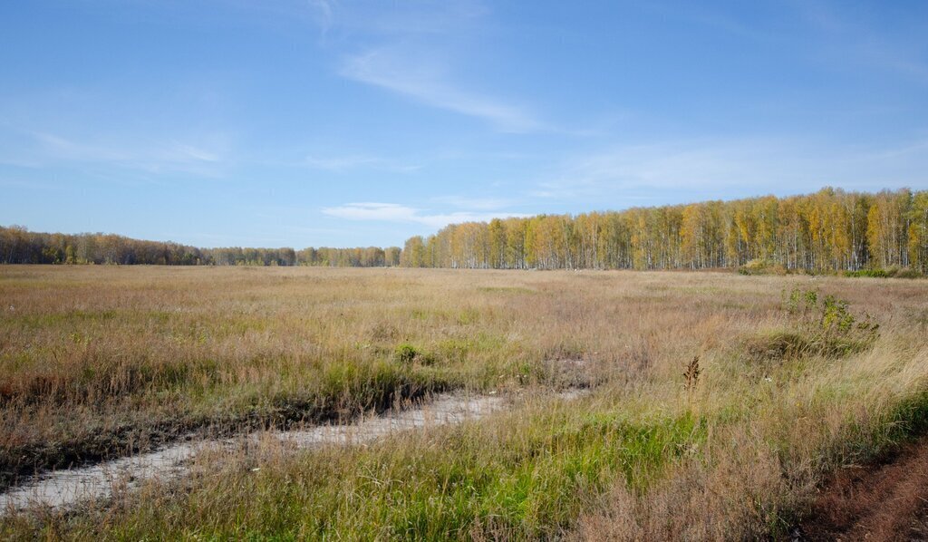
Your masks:
M 882 464 L 839 471 L 799 540 L 928 540 L 928 437 Z

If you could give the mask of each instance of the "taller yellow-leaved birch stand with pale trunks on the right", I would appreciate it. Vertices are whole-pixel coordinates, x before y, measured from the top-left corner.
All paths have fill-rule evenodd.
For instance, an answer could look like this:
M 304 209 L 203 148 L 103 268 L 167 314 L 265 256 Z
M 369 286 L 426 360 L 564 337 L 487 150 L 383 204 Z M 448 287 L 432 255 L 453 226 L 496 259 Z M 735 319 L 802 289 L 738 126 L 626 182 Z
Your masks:
M 912 267 L 928 272 L 928 191 L 824 188 L 622 212 L 446 226 L 406 241 L 408 267 L 790 270 Z

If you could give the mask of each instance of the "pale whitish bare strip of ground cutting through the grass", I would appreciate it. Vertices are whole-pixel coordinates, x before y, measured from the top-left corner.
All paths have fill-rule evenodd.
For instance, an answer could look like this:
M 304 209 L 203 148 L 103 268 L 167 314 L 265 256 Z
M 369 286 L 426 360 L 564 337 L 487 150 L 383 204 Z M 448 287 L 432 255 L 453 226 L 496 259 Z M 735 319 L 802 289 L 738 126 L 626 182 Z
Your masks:
M 557 396 L 574 399 L 582 391 L 572 390 Z M 452 425 L 469 419 L 481 419 L 508 406 L 495 395 L 439 394 L 432 401 L 414 407 L 391 410 L 382 416 L 359 419 L 341 425 L 316 426 L 298 431 L 252 433 L 257 440 L 275 436 L 296 448 L 320 445 L 350 445 L 370 442 L 391 434 L 419 428 Z M 133 489 L 146 480 L 171 480 L 185 476 L 190 459 L 207 448 L 231 447 L 240 439 L 191 440 L 165 446 L 154 452 L 106 461 L 92 467 L 51 472 L 10 488 L 0 494 L 0 515 L 28 507 L 68 508 L 82 501 L 107 498 L 114 488 Z

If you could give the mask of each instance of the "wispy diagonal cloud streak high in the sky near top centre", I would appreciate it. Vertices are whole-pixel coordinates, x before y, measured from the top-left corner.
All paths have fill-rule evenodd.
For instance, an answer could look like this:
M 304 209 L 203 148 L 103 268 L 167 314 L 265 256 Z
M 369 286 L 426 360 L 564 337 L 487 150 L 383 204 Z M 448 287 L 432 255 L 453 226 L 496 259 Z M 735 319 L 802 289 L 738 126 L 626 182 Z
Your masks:
M 405 54 L 379 48 L 346 58 L 340 74 L 360 83 L 372 84 L 410 97 L 427 106 L 451 110 L 492 123 L 510 133 L 538 132 L 545 129 L 525 108 L 495 97 L 462 90 L 449 84 L 424 59 L 412 60 Z

